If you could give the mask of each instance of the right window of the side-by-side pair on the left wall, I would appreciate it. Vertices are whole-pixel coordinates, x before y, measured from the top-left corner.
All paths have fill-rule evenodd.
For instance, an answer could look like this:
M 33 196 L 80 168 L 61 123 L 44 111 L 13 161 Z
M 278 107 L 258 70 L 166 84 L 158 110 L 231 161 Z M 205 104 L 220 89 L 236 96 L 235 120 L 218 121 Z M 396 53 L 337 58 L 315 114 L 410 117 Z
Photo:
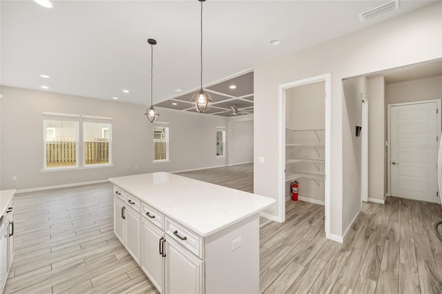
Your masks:
M 111 164 L 112 120 L 83 116 L 84 166 Z

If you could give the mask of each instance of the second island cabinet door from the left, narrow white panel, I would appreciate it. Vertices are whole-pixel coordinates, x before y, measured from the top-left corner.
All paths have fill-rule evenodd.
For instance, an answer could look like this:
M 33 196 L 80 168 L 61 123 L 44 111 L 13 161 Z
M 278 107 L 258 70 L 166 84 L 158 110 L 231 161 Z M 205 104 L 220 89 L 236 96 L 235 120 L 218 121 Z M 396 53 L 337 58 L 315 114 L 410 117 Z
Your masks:
M 126 209 L 126 249 L 137 264 L 140 264 L 141 216 L 131 208 Z

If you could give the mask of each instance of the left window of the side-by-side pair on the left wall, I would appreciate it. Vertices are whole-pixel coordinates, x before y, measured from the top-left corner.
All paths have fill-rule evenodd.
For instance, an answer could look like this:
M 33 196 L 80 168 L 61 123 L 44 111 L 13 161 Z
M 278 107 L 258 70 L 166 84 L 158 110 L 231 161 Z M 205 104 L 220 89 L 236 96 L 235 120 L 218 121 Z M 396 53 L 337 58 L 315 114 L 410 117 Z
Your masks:
M 78 124 L 75 115 L 44 115 L 44 168 L 78 165 Z

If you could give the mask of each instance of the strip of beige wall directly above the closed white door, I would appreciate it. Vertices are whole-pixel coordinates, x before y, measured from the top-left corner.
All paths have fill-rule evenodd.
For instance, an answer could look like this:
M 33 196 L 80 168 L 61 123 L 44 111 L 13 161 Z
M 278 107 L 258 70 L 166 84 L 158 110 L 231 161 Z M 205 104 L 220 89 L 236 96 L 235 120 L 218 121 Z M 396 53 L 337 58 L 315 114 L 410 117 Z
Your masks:
M 385 86 L 387 104 L 442 98 L 442 75 Z

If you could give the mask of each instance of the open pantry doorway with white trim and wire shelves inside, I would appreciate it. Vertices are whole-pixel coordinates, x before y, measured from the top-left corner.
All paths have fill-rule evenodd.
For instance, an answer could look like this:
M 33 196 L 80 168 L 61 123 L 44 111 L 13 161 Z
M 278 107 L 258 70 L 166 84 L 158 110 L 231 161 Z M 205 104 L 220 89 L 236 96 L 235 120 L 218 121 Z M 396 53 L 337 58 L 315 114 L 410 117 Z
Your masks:
M 291 183 L 298 182 L 298 199 L 325 206 L 325 235 L 329 238 L 330 210 L 330 75 L 280 85 L 281 154 L 280 204 Z M 292 201 L 292 200 L 289 200 Z

